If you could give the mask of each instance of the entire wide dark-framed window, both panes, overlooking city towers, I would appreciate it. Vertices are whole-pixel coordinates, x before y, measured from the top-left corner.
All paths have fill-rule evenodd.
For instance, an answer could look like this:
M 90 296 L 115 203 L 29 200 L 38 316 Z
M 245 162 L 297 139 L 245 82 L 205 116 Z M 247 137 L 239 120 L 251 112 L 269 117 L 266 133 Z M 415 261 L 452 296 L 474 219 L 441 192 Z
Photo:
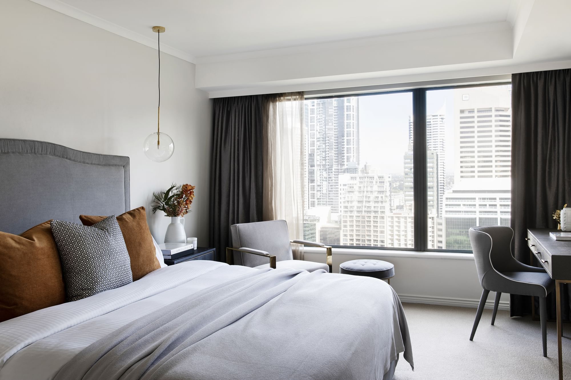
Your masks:
M 304 105 L 305 239 L 461 251 L 471 250 L 469 228 L 510 224 L 510 84 Z

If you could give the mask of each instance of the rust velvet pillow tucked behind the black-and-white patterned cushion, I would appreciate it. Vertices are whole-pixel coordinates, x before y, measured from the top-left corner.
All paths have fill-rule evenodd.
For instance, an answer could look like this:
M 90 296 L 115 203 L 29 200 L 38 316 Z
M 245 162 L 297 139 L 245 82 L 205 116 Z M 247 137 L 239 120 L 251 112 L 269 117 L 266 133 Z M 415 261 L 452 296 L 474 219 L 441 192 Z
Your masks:
M 79 219 L 83 225 L 94 225 L 106 217 L 80 215 Z M 152 242 L 151 231 L 148 229 L 147 213 L 144 207 L 135 208 L 119 215 L 117 221 L 131 259 L 133 281 L 139 280 L 155 269 L 159 269 L 160 264 L 159 260 L 156 260 L 155 245 Z

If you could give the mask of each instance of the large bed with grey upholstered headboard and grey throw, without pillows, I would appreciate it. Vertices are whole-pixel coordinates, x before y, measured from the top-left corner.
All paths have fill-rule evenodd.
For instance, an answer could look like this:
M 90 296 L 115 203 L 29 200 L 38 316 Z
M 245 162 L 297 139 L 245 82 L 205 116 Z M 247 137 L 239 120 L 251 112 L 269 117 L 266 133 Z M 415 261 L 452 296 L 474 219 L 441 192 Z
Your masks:
M 128 157 L 0 139 L 0 197 L 41 199 L 33 211 L 23 202 L 0 209 L 0 231 L 128 211 L 128 165 Z M 0 322 L 0 380 L 389 380 L 400 354 L 413 365 L 402 306 L 385 282 L 215 261 L 160 268 Z

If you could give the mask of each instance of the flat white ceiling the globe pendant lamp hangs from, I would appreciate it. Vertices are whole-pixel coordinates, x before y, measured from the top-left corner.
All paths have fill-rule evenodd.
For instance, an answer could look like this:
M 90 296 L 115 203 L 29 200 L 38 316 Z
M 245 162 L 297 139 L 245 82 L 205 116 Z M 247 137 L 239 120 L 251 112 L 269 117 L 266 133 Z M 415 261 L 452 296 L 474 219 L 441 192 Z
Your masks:
M 38 1 L 42 3 L 42 1 Z M 61 0 L 188 56 L 506 21 L 512 0 Z M 44 1 L 49 3 L 49 1 Z

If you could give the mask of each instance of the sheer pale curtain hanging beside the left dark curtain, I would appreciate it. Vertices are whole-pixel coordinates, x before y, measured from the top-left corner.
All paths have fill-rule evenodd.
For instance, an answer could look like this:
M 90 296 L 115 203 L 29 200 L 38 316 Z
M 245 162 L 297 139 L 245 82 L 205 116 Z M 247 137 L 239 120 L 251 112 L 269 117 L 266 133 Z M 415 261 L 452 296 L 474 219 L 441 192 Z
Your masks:
M 303 92 L 276 94 L 268 102 L 267 115 L 264 220 L 284 219 L 289 237 L 303 239 Z

